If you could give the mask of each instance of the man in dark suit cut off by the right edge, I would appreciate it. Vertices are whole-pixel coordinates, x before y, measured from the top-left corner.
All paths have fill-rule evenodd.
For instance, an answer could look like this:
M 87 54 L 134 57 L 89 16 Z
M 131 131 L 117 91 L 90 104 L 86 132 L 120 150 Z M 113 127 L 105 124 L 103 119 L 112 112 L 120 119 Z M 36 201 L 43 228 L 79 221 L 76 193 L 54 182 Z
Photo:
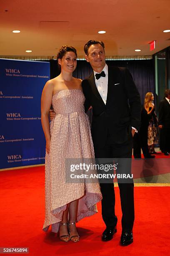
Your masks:
M 170 89 L 165 90 L 165 98 L 159 105 L 160 149 L 169 156 L 170 153 Z

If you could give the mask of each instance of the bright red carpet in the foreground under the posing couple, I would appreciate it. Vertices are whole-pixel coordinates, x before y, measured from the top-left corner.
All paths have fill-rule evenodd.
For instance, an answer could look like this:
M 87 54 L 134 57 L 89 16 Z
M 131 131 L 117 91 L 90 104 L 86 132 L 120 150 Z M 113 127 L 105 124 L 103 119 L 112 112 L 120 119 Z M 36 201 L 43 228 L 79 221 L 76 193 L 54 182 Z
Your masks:
M 101 241 L 105 228 L 99 213 L 77 223 L 80 242 L 61 242 L 42 231 L 44 221 L 44 167 L 0 172 L 0 247 L 29 247 L 28 255 L 169 255 L 170 187 L 135 187 L 134 243 L 119 245 L 121 209 L 116 193 L 117 233 Z

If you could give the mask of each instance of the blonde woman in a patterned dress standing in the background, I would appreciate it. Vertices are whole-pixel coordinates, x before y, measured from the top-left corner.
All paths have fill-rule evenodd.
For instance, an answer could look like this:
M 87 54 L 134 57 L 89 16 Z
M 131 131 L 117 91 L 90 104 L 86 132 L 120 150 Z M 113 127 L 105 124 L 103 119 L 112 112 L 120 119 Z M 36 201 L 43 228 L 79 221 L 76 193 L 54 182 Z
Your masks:
M 158 135 L 157 127 L 158 121 L 155 113 L 154 96 L 152 92 L 147 92 L 145 95 L 144 107 L 148 115 L 150 115 L 150 122 L 148 126 L 148 146 L 150 153 L 156 154 L 155 152 L 155 138 Z

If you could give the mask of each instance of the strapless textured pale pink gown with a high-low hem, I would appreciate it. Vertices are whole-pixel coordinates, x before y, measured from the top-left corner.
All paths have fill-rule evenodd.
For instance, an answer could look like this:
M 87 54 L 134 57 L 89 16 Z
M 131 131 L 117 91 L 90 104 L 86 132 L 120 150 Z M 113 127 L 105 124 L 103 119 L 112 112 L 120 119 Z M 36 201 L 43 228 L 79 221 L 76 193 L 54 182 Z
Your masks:
M 94 159 L 88 116 L 84 111 L 82 90 L 62 90 L 52 97 L 56 113 L 50 123 L 50 154 L 45 156 L 45 222 L 43 230 L 52 225 L 57 232 L 63 211 L 69 202 L 79 199 L 77 221 L 97 212 L 102 199 L 97 182 L 65 182 L 65 159 Z

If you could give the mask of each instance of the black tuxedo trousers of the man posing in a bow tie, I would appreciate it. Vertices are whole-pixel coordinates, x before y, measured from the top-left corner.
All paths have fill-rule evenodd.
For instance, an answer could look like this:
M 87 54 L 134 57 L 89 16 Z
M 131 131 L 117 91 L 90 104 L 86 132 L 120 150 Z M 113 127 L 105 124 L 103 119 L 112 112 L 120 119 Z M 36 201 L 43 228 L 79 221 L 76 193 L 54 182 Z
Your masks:
M 122 144 L 110 144 L 109 138 L 105 147 L 99 148 L 94 145 L 95 158 L 130 158 L 132 157 L 133 138 Z M 131 170 L 128 170 L 128 173 Z M 125 171 L 127 173 L 127 170 Z M 134 184 L 119 183 L 120 201 L 122 208 L 122 231 L 132 231 L 135 219 L 134 210 Z M 115 190 L 114 183 L 100 183 L 102 193 L 102 218 L 106 227 L 112 227 L 117 224 L 115 215 Z

